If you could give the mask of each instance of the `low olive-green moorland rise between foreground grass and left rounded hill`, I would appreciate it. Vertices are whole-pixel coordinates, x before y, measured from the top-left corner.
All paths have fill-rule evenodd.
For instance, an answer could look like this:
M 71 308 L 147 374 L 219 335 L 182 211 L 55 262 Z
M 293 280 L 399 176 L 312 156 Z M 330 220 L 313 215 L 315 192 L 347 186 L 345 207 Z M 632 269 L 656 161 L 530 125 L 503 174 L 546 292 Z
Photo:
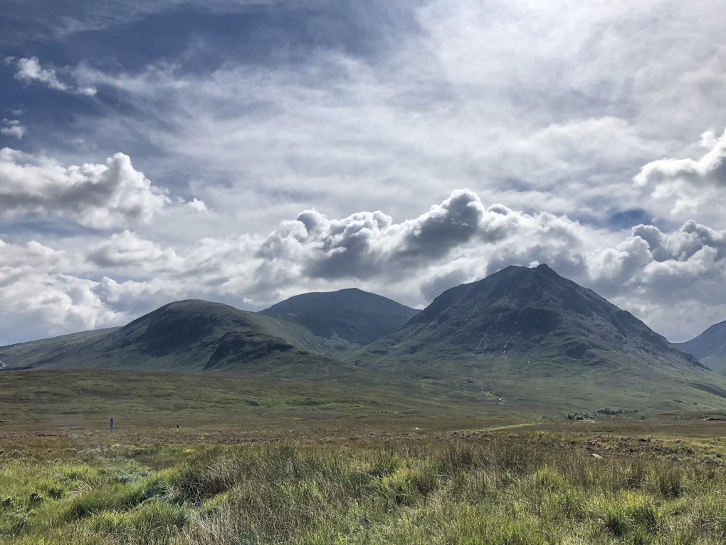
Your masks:
M 266 431 L 350 425 L 367 419 L 484 416 L 473 402 L 439 390 L 380 377 L 375 387 L 270 377 L 129 371 L 5 371 L 0 373 L 0 433 L 143 429 Z M 501 416 L 507 416 L 502 411 Z M 490 418 L 491 420 L 491 418 Z M 405 426 L 411 425 L 410 423 Z M 323 426 L 324 427 L 324 426 Z

